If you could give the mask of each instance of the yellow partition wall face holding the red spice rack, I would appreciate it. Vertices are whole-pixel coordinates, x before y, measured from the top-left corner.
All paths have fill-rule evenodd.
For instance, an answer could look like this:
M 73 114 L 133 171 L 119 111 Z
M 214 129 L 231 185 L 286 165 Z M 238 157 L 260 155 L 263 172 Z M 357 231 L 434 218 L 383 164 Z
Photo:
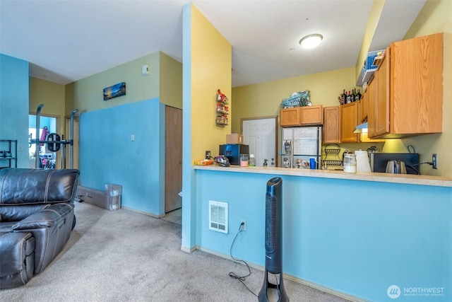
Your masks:
M 213 25 L 191 7 L 191 156 L 203 159 L 205 151 L 218 154 L 225 144 L 230 125 L 215 125 L 215 95 L 220 89 L 230 99 L 230 110 L 237 103 L 231 98 L 232 47 Z

